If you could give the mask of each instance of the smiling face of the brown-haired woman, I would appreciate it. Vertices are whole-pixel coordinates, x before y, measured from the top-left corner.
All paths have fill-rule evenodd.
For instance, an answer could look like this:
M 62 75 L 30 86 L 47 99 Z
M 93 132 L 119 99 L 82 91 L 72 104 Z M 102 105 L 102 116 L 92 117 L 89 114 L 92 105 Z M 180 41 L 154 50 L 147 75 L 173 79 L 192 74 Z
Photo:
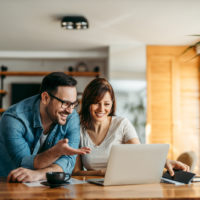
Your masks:
M 112 109 L 112 99 L 109 92 L 106 92 L 101 101 L 90 105 L 90 115 L 96 122 L 107 119 Z

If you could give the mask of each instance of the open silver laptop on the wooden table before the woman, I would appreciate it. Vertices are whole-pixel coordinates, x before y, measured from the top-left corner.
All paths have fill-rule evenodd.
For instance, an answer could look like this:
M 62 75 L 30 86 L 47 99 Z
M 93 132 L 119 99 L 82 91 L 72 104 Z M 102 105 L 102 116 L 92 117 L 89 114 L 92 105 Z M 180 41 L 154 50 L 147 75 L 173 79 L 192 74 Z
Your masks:
M 160 183 L 169 144 L 113 145 L 104 179 L 88 179 L 98 185 Z

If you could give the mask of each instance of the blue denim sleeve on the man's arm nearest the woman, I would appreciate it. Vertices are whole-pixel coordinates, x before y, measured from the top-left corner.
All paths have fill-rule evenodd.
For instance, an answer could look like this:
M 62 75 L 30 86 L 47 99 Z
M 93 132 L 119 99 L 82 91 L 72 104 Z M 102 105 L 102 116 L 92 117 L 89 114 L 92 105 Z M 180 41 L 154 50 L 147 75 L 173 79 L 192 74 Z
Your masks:
M 80 143 L 80 120 L 77 112 L 74 112 L 67 121 L 65 138 L 69 140 L 69 146 L 79 148 Z M 59 165 L 64 172 L 72 173 L 76 162 L 76 155 L 61 156 L 55 164 Z

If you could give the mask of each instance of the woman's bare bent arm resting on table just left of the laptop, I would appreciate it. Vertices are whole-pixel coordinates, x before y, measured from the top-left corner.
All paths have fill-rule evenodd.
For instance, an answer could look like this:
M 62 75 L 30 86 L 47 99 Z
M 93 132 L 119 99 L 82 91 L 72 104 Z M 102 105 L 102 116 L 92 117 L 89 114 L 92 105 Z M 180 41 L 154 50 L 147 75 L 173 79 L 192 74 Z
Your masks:
M 106 172 L 106 169 L 100 169 L 100 170 L 89 170 L 85 171 L 83 170 L 83 165 L 81 162 L 81 157 L 77 156 L 76 158 L 76 165 L 74 167 L 74 170 L 72 172 L 73 176 L 104 176 Z

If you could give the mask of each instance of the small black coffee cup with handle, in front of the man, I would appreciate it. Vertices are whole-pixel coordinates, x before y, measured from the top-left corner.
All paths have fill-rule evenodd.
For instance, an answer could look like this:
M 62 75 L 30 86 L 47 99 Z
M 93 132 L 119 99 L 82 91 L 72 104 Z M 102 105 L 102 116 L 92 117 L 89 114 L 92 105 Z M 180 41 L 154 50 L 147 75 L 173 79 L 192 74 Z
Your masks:
M 65 172 L 47 172 L 46 178 L 47 181 L 51 184 L 60 184 L 68 181 L 71 176 L 69 173 Z

